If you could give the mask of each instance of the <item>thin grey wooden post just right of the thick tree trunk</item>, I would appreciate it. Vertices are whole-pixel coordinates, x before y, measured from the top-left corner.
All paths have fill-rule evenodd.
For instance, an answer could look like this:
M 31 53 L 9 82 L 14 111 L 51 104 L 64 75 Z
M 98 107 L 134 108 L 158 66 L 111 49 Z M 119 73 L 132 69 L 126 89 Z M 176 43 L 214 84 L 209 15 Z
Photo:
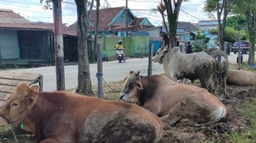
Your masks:
M 103 82 L 102 82 L 102 46 L 97 44 L 97 73 L 96 77 L 98 80 L 98 98 L 103 98 Z

